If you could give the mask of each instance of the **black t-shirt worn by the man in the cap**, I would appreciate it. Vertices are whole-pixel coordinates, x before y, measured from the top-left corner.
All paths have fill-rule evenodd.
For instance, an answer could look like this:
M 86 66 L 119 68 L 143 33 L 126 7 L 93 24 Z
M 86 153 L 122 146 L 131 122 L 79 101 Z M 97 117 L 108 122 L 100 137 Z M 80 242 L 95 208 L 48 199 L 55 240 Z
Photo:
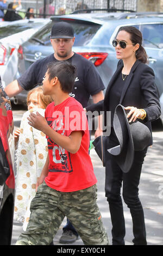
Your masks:
M 95 95 L 105 89 L 102 79 L 93 63 L 83 56 L 74 53 L 67 61 L 77 67 L 77 77 L 70 96 L 75 97 L 83 107 L 86 107 L 90 95 Z M 59 62 L 59 60 L 54 58 L 54 54 L 51 54 L 33 63 L 29 69 L 18 78 L 17 81 L 20 86 L 25 90 L 30 90 L 38 84 L 42 84 L 43 76 L 45 76 L 47 71 L 47 64 L 50 62 Z

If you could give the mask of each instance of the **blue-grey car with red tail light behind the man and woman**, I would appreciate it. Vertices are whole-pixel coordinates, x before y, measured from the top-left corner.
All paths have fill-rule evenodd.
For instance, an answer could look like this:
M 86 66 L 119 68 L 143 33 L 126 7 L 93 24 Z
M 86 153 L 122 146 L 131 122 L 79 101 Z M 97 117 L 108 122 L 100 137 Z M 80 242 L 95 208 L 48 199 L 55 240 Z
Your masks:
M 53 53 L 50 42 L 54 22 L 66 21 L 74 28 L 73 51 L 89 59 L 96 66 L 104 86 L 107 87 L 114 74 L 118 60 L 112 40 L 122 26 L 134 26 L 143 35 L 143 46 L 149 57 L 149 66 L 154 70 L 155 83 L 161 98 L 163 95 L 163 14 L 162 13 L 82 13 L 51 17 L 43 29 L 18 49 L 18 72 L 16 78 L 37 59 Z M 23 94 L 16 97 L 24 100 Z

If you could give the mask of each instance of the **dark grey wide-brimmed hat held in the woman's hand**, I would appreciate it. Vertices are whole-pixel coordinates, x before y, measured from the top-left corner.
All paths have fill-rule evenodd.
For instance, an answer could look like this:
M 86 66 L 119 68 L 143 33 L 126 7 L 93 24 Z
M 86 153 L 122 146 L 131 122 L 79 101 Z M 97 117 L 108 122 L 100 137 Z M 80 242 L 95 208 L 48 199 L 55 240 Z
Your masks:
M 133 165 L 134 151 L 148 147 L 152 135 L 148 127 L 140 121 L 129 123 L 122 105 L 118 105 L 115 109 L 113 127 L 119 144 L 108 149 L 108 152 L 115 156 L 118 166 L 127 173 Z

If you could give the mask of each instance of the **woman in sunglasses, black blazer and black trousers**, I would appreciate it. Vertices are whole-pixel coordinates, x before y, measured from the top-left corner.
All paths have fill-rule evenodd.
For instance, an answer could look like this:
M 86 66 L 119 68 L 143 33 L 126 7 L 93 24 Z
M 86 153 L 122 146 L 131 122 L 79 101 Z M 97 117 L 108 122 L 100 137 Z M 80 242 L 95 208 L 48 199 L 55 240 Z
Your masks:
M 120 61 L 112 76 L 105 98 L 96 105 L 86 107 L 86 111 L 111 111 L 111 133 L 109 142 L 117 145 L 117 137 L 112 127 L 112 118 L 118 104 L 129 111 L 129 122 L 137 118 L 151 129 L 151 121 L 160 116 L 160 104 L 154 83 L 154 72 L 146 65 L 147 54 L 142 47 L 142 34 L 135 27 L 121 27 L 116 39 L 112 41 L 116 57 Z M 150 143 L 152 144 L 152 142 Z M 149 145 L 150 145 L 149 144 Z M 139 199 L 139 181 L 142 163 L 147 148 L 135 151 L 134 163 L 127 173 L 123 173 L 114 156 L 107 154 L 105 167 L 105 196 L 109 202 L 112 222 L 112 245 L 124 245 L 126 233 L 121 187 L 123 181 L 123 199 L 130 209 L 133 220 L 134 245 L 146 245 L 146 228 L 143 208 Z

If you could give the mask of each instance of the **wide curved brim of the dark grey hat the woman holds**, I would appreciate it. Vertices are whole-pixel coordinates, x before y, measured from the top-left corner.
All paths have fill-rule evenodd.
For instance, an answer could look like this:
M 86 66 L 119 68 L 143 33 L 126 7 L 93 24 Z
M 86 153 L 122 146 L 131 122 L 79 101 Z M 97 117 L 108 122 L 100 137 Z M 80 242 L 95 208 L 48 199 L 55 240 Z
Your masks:
M 114 155 L 118 166 L 124 173 L 127 173 L 134 161 L 134 142 L 127 114 L 122 105 L 118 105 L 115 109 L 113 126 L 120 145 L 108 149 L 108 152 Z

